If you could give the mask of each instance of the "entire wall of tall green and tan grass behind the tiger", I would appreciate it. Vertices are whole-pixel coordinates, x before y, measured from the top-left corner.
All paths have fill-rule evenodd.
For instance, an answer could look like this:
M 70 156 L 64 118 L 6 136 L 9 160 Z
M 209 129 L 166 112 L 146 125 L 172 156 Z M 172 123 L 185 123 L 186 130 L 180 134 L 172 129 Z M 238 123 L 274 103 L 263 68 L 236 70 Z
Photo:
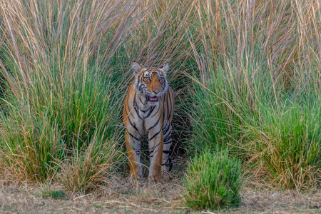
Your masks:
M 320 1 L 7 0 L 0 10 L 0 163 L 14 178 L 85 191 L 112 175 L 136 60 L 170 62 L 176 153 L 228 148 L 248 179 L 284 188 L 320 179 Z

